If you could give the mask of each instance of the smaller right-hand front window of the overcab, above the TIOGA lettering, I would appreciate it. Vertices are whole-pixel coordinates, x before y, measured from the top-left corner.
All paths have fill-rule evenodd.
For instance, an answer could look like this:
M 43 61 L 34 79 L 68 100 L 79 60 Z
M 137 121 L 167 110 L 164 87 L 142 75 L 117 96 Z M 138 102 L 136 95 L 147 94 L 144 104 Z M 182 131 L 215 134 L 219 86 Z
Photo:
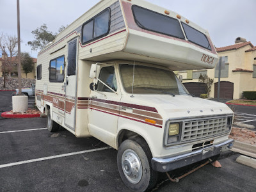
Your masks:
M 197 45 L 200 45 L 202 47 L 205 47 L 206 49 L 211 50 L 211 45 L 209 44 L 209 41 L 207 37 L 204 35 L 204 33 L 201 33 L 200 31 L 197 31 L 196 29 L 191 28 L 190 26 L 188 26 L 187 24 L 184 24 L 183 22 L 182 22 L 182 26 L 190 42 L 193 42 Z

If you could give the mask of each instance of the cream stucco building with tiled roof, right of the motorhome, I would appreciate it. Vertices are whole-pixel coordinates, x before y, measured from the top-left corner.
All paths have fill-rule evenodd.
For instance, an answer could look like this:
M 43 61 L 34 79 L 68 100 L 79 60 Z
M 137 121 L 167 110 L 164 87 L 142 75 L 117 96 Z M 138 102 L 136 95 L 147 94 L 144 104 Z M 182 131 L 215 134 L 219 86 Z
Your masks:
M 244 38 L 237 37 L 234 45 L 216 48 L 225 57 L 225 68 L 221 69 L 220 98 L 241 99 L 243 91 L 256 91 L 256 46 Z M 209 70 L 177 71 L 192 94 L 205 93 L 204 84 L 198 83 L 200 74 L 214 79 L 209 97 L 217 97 L 218 68 Z

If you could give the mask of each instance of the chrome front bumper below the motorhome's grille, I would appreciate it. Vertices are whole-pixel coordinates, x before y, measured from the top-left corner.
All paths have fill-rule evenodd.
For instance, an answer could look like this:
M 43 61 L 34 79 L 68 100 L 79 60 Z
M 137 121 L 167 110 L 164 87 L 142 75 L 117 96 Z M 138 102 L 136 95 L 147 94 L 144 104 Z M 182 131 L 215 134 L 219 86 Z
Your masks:
M 170 172 L 177 168 L 187 166 L 189 164 L 196 163 L 203 159 L 207 159 L 212 156 L 216 156 L 221 152 L 232 148 L 234 140 L 227 140 L 223 143 L 211 145 L 209 147 L 201 148 L 193 152 L 181 154 L 179 156 L 169 158 L 152 158 L 152 168 L 157 172 Z

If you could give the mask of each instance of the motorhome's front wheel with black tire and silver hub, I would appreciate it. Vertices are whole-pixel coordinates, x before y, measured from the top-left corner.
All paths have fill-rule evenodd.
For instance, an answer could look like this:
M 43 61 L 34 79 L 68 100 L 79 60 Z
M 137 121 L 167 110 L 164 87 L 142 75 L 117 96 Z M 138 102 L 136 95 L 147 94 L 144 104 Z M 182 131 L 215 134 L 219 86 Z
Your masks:
M 118 171 L 124 184 L 132 191 L 147 191 L 156 185 L 158 173 L 152 170 L 151 159 L 150 148 L 141 138 L 125 140 L 118 148 Z M 132 167 L 135 172 L 131 171 Z

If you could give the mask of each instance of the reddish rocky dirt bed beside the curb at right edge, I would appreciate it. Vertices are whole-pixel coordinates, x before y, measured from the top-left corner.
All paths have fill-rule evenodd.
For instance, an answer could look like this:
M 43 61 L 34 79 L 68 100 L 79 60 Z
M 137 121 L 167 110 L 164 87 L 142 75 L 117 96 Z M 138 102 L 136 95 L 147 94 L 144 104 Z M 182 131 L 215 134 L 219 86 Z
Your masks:
M 232 127 L 229 138 L 251 145 L 256 145 L 256 132 L 245 128 Z

